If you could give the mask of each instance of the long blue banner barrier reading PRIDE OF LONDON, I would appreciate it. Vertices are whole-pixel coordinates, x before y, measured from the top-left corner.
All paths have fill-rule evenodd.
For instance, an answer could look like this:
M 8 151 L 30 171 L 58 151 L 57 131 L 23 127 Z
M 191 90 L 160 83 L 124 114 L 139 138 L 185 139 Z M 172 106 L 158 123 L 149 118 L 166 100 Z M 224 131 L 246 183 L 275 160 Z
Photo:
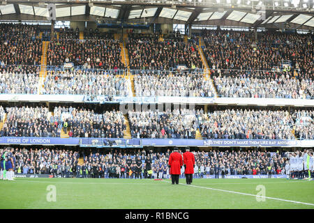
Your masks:
M 82 147 L 142 146 L 218 146 L 218 147 L 314 147 L 313 139 L 118 139 L 118 138 L 57 138 L 0 137 L 1 145 L 68 145 Z

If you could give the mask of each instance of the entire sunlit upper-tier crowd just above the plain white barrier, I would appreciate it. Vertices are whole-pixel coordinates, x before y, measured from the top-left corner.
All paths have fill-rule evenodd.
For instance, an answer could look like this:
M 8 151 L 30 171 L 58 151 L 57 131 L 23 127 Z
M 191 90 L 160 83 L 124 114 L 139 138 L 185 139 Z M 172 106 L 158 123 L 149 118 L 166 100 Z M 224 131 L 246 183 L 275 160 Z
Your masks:
M 0 93 L 38 93 L 38 66 L 0 67 Z M 48 70 L 44 94 L 130 95 L 128 79 L 114 70 Z M 314 99 L 313 77 L 291 72 L 213 70 L 220 97 Z M 200 71 L 138 72 L 136 96 L 214 97 L 211 80 Z

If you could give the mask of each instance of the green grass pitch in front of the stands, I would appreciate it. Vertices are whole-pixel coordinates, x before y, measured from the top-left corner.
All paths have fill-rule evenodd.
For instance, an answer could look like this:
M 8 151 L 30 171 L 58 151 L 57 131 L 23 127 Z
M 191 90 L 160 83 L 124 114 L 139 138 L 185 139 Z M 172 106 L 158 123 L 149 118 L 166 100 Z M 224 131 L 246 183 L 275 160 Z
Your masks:
M 314 208 L 313 180 L 194 179 L 190 186 L 180 179 L 179 183 L 151 179 L 0 180 L 0 208 Z M 47 201 L 49 185 L 55 186 L 57 201 Z M 264 186 L 265 201 L 250 195 L 260 192 L 257 185 Z

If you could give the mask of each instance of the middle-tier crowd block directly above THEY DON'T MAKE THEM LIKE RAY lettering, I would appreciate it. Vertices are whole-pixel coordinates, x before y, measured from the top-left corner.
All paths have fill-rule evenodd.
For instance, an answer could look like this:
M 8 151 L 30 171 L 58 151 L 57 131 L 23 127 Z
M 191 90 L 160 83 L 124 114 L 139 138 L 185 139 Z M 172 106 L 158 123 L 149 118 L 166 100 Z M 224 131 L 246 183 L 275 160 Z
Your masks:
M 200 114 L 205 139 L 294 139 L 287 111 L 225 109 Z

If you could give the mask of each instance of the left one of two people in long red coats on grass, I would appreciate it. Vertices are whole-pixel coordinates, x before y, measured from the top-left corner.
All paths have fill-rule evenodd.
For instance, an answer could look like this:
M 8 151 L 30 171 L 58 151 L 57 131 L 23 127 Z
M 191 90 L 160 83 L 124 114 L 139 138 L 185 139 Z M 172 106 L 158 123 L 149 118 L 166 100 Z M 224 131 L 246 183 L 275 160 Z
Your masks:
M 183 165 L 182 155 L 178 153 L 178 148 L 174 147 L 173 153 L 170 154 L 169 163 L 172 184 L 179 184 L 179 176 Z

